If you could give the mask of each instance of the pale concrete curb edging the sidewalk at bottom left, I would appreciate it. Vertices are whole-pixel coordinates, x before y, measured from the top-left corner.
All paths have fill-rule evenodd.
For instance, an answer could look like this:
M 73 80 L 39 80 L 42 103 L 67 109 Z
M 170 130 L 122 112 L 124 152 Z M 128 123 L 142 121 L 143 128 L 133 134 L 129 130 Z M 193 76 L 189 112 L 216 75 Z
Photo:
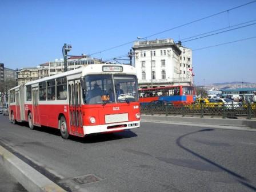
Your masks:
M 0 146 L 0 157 L 0 163 L 3 167 L 5 167 L 27 191 L 67 192 L 2 146 Z

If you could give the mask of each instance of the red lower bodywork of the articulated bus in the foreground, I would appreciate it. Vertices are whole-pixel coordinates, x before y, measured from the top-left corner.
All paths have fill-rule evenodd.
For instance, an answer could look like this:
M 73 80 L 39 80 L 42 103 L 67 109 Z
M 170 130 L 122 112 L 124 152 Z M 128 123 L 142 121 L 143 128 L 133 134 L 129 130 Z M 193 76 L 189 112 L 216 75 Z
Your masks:
M 17 116 L 17 107 L 10 106 L 10 110 L 13 110 L 14 118 Z M 67 121 L 67 126 L 69 127 L 70 134 L 83 136 L 83 126 L 94 126 L 94 125 L 105 125 L 106 115 L 120 115 L 124 114 L 127 119 L 123 120 L 121 118 L 120 122 L 127 121 L 138 121 L 136 114 L 139 113 L 139 102 L 134 103 L 107 103 L 107 105 L 82 105 L 78 107 L 77 111 L 75 107 L 69 107 L 69 105 L 38 105 L 36 108 L 32 105 L 25 104 L 25 121 L 29 113 L 32 114 L 33 119 L 37 119 L 37 124 L 41 126 L 49 126 L 58 128 L 58 117 L 63 114 Z M 82 115 L 82 117 L 81 117 Z M 90 118 L 95 118 L 95 123 L 90 122 Z M 82 122 L 81 122 L 82 121 Z M 119 122 L 119 119 L 112 120 L 113 123 Z M 120 125 L 122 126 L 122 124 Z M 109 126 L 109 131 L 111 129 L 120 128 L 118 126 Z M 127 129 L 123 126 L 123 129 Z M 107 132 L 109 132 L 107 131 Z

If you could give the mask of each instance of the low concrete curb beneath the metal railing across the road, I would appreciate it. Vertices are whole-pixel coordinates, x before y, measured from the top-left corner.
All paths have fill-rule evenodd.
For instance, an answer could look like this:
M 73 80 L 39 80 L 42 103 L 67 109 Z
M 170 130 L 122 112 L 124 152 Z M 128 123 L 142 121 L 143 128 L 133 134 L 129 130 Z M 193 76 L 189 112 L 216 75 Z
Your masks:
M 141 115 L 141 121 L 155 121 L 166 123 L 183 123 L 193 125 L 210 126 L 236 126 L 256 129 L 256 121 L 248 119 L 222 119 L 222 118 L 198 118 L 198 117 L 172 117 L 165 115 Z

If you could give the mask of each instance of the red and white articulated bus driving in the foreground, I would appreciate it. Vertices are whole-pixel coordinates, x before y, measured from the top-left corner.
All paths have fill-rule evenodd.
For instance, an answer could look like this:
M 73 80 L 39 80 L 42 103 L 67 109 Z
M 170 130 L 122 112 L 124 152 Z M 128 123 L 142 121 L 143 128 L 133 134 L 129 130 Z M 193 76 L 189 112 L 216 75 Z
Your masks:
M 9 90 L 9 119 L 69 135 L 109 133 L 140 126 L 135 68 L 89 65 Z

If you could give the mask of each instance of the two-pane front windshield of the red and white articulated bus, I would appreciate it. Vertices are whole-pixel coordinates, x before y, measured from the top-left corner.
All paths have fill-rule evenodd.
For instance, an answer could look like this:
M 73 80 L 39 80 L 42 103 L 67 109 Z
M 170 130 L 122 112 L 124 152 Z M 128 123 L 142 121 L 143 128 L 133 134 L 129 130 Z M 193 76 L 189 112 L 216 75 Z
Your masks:
M 135 75 L 85 76 L 85 89 L 83 90 L 85 104 L 134 101 L 138 101 L 138 85 Z

